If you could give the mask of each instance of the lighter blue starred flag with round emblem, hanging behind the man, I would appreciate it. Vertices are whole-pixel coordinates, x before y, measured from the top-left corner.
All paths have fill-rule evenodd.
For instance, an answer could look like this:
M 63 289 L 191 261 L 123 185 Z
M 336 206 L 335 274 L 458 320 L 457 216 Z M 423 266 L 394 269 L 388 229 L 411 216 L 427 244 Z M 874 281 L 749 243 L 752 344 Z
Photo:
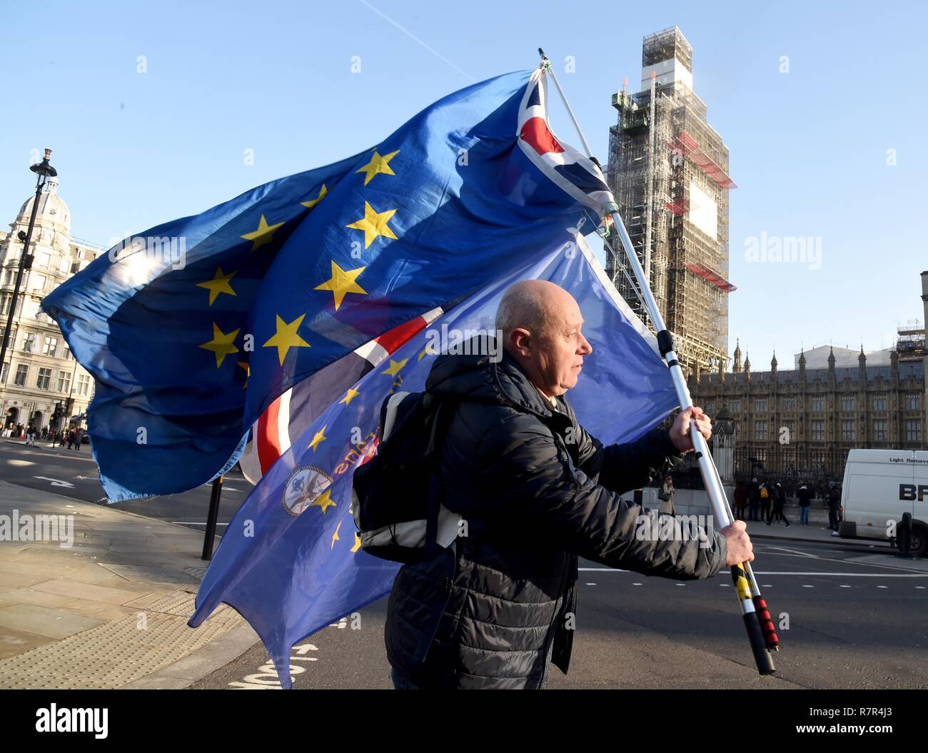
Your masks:
M 635 440 L 677 407 L 655 338 L 583 237 L 562 229 L 541 250 L 538 261 L 500 274 L 407 341 L 293 442 L 229 523 L 191 627 L 221 603 L 234 606 L 261 636 L 286 688 L 290 674 L 304 671 L 301 657 L 291 666 L 294 645 L 390 591 L 401 566 L 360 549 L 351 506 L 354 470 L 376 451 L 380 404 L 394 390 L 424 389 L 437 354 L 453 353 L 462 333 L 492 331 L 499 300 L 518 280 L 549 280 L 580 306 L 593 351 L 565 398 L 593 436 L 607 444 Z

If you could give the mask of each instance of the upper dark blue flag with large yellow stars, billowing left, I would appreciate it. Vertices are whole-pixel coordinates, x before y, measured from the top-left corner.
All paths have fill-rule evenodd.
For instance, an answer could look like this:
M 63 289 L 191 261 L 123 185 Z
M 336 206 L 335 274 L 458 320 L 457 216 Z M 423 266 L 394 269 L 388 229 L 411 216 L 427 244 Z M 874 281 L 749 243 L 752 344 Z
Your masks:
M 95 377 L 111 500 L 238 459 L 278 395 L 599 223 L 599 168 L 548 127 L 545 74 L 425 108 L 377 147 L 131 236 L 45 298 Z

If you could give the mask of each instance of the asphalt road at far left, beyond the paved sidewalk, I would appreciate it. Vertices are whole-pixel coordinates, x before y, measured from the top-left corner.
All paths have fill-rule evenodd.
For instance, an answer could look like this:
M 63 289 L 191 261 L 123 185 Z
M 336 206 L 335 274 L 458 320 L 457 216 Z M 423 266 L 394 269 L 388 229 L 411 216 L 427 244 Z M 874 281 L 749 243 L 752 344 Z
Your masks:
M 67 447 L 52 449 L 50 445 L 47 441 L 36 441 L 34 447 L 26 447 L 19 440 L 0 440 L 0 479 L 32 489 L 44 489 L 71 499 L 107 504 L 106 492 L 100 486 L 97 464 L 90 452 L 90 445 L 84 444 L 80 450 L 69 450 Z M 194 530 L 205 530 L 211 487 L 212 484 L 204 484 L 199 489 L 185 491 L 183 494 L 165 494 L 119 502 L 112 506 L 136 515 L 170 520 Z M 222 535 L 249 491 L 251 484 L 242 478 L 238 468 L 226 476 L 216 528 L 219 535 Z

